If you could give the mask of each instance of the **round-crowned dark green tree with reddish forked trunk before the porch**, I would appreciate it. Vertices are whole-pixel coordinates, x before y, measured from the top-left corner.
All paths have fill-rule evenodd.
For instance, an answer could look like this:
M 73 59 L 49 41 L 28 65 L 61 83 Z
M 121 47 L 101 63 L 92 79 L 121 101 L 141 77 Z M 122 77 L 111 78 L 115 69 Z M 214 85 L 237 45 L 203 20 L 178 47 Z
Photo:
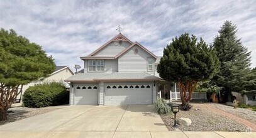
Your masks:
M 198 82 L 212 78 L 218 68 L 216 51 L 202 38 L 198 42 L 196 36 L 184 33 L 164 48 L 157 72 L 164 80 L 179 84 L 182 105 L 185 105 L 191 100 Z

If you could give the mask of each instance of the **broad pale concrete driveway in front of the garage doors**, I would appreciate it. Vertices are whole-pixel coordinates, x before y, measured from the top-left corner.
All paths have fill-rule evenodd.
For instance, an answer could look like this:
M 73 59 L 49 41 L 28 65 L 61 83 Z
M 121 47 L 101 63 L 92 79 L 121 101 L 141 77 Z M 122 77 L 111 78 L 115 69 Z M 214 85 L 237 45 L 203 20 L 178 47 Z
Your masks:
M 165 131 L 153 105 L 74 106 L 0 126 L 1 137 L 152 137 Z

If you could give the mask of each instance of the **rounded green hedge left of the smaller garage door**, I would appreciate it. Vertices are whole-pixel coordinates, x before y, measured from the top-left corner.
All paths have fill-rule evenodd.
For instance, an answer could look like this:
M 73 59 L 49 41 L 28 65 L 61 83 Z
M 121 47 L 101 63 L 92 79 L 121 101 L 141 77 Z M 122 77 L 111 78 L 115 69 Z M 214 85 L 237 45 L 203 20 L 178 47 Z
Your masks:
M 25 107 L 48 107 L 69 103 L 69 92 L 62 83 L 43 83 L 28 88 L 22 98 Z

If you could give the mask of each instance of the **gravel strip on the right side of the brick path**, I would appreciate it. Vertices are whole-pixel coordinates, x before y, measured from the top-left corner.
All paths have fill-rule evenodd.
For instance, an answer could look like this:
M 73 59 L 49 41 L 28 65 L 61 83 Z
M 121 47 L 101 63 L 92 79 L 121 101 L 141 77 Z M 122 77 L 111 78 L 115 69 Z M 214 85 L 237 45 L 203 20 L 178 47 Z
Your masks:
M 249 110 L 249 109 L 241 109 L 237 108 L 234 109 L 234 107 L 223 105 L 223 104 L 212 104 L 217 109 L 223 110 L 225 112 L 228 112 L 230 114 L 236 115 L 237 117 L 240 117 L 242 119 L 246 119 L 254 124 L 256 124 L 256 112 Z

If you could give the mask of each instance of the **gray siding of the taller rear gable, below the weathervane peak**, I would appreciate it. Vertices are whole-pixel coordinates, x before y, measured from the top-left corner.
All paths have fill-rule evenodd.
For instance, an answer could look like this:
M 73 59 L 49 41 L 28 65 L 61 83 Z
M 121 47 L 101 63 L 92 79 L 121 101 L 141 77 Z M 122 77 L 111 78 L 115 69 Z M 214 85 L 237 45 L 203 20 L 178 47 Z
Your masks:
M 116 56 L 130 45 L 131 44 L 127 41 L 121 41 L 121 43 L 119 41 L 113 41 L 93 56 Z

